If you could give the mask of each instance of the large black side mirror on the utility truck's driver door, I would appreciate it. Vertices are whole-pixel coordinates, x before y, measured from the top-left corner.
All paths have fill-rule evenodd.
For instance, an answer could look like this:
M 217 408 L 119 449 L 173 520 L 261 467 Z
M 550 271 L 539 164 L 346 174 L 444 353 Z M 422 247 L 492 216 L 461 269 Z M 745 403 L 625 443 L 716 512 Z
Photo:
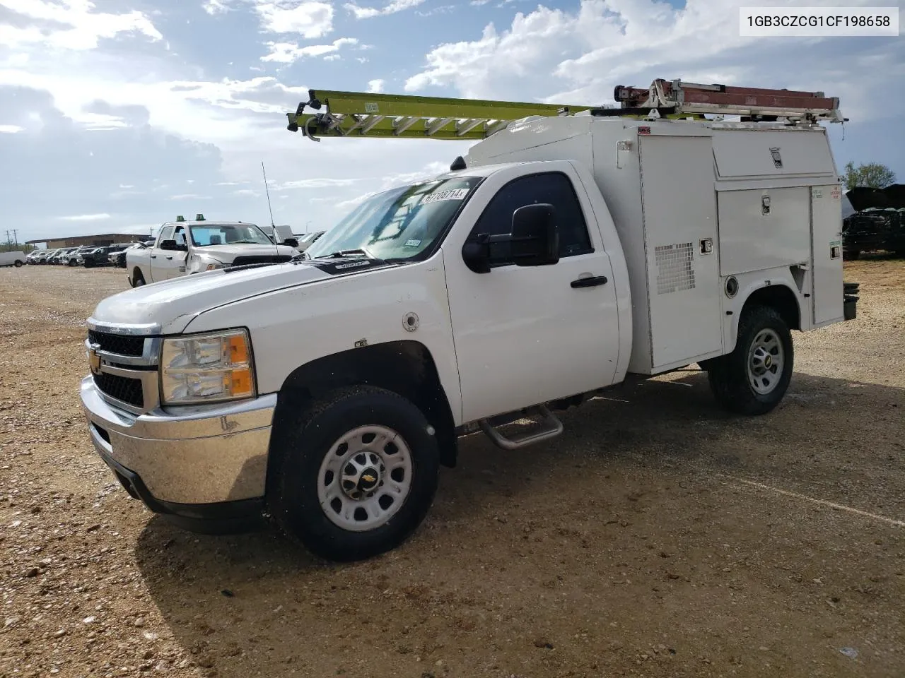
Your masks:
M 559 261 L 556 208 L 547 202 L 524 205 L 512 212 L 509 233 L 480 233 L 462 247 L 465 266 L 475 273 L 490 273 L 496 262 L 516 266 L 548 266 Z

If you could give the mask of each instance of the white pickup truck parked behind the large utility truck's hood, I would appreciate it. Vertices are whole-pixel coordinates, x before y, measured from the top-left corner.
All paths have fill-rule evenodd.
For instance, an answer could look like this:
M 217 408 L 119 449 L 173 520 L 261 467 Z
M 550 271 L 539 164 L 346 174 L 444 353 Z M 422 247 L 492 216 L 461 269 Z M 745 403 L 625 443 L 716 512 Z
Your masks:
M 127 250 L 127 276 L 129 285 L 141 287 L 227 266 L 279 263 L 299 253 L 293 244 L 273 240 L 253 223 L 206 221 L 204 214 L 186 221 L 180 215 L 160 227 L 151 247 Z

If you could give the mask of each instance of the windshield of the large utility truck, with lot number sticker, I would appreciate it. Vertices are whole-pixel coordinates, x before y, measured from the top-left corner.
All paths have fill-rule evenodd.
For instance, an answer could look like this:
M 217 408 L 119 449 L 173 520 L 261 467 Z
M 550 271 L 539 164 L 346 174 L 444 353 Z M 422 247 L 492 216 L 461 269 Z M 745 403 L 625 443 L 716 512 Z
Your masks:
M 442 236 L 480 181 L 477 177 L 456 177 L 377 193 L 312 244 L 306 250 L 307 258 L 365 250 L 377 259 L 415 259 Z

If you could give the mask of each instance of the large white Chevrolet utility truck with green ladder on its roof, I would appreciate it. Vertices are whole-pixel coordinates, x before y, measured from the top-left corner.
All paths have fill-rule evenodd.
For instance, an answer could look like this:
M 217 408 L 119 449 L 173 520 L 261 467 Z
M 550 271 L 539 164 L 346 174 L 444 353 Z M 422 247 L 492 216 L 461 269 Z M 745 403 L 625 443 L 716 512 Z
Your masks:
M 90 437 L 187 529 L 264 518 L 323 557 L 367 558 L 422 522 L 458 438 L 547 440 L 556 410 L 695 363 L 724 407 L 763 415 L 792 377 L 791 331 L 853 315 L 819 124 L 843 119 L 837 99 L 678 80 L 577 112 L 316 94 L 328 110 L 291 130 L 481 141 L 291 262 L 100 302 Z M 507 433 L 526 418 L 538 430 Z

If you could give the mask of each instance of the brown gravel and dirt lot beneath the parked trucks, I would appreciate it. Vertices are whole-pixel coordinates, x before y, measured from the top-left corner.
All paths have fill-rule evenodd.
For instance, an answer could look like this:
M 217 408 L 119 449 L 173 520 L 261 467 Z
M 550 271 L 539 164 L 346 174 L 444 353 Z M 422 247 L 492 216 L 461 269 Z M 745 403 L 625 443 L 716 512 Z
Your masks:
M 905 262 L 846 279 L 773 414 L 678 372 L 469 438 L 412 541 L 332 566 L 130 499 L 78 403 L 125 273 L 0 269 L 0 676 L 905 675 Z

